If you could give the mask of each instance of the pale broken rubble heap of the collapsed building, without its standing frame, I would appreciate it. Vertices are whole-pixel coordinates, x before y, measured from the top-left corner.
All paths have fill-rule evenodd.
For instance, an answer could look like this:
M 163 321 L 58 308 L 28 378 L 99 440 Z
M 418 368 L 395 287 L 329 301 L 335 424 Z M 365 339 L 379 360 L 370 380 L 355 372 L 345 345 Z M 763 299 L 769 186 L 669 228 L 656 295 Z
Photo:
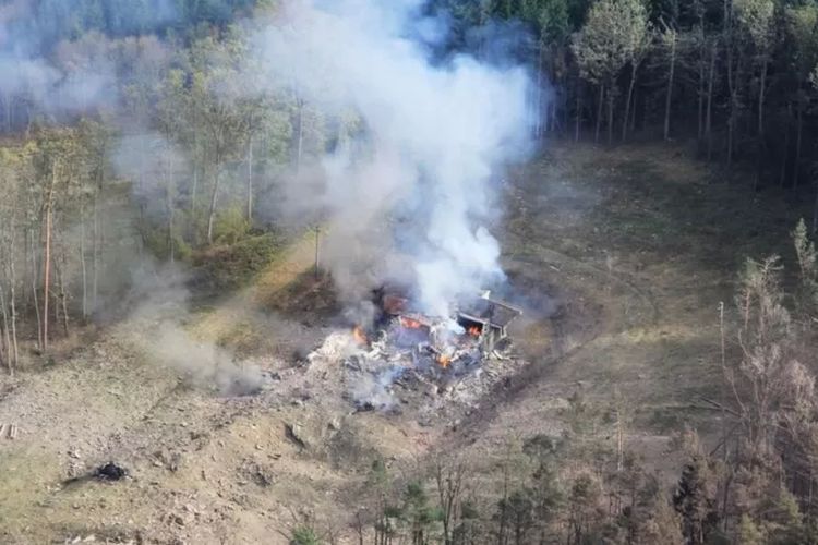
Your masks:
M 322 380 L 342 373 L 345 398 L 356 413 L 399 412 L 407 401 L 396 389 L 428 396 L 433 403 L 440 398 L 470 404 L 518 363 L 507 339 L 488 349 L 478 326 L 467 329 L 453 319 L 418 314 L 393 316 L 376 330 L 335 331 L 306 361 L 308 374 Z M 298 439 L 298 429 L 290 435 Z

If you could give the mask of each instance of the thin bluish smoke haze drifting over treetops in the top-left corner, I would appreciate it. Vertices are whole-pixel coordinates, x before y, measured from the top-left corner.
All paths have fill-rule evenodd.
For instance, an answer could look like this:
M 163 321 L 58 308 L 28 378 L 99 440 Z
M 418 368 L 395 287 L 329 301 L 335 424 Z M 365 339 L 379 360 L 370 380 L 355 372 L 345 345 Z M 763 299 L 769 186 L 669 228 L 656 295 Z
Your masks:
M 203 16 L 225 23 L 239 3 L 213 0 L 205 9 L 175 0 L 0 2 L 0 100 L 7 111 L 11 105 L 21 110 L 5 120 L 9 129 L 99 110 L 122 113 L 123 86 L 155 85 L 157 69 L 170 59 L 173 44 L 159 36 Z

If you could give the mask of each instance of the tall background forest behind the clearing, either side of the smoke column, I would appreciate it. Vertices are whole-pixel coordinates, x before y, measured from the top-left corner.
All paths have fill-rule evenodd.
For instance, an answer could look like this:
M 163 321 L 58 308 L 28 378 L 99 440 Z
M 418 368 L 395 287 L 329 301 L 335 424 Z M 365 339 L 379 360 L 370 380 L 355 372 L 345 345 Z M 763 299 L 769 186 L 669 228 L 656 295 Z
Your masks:
M 246 93 L 261 71 L 249 17 L 275 12 L 252 3 L 4 7 L 11 324 L 41 307 L 62 316 L 64 330 L 69 316 L 98 311 L 125 280 L 100 272 L 122 263 L 106 238 L 173 261 L 269 227 L 280 213 L 266 198 L 277 178 L 360 131 L 354 112 L 322 111 L 296 87 Z M 452 0 L 424 9 L 450 19 L 430 55 L 527 63 L 538 137 L 693 140 L 702 160 L 723 164 L 725 179 L 747 191 L 815 194 L 811 2 Z M 816 221 L 818 209 L 813 231 Z M 40 344 L 50 335 L 40 331 Z

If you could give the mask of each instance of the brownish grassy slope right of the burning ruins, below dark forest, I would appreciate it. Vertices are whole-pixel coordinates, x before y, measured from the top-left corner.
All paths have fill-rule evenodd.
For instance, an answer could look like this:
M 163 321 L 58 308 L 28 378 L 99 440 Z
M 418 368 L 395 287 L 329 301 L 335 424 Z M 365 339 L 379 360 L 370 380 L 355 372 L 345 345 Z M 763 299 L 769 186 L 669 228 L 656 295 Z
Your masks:
M 477 437 L 471 455 L 489 467 L 509 437 L 558 434 L 581 390 L 603 411 L 622 399 L 626 446 L 670 483 L 670 434 L 719 429 L 700 400 L 720 393 L 718 304 L 732 303 L 745 257 L 789 252 L 797 214 L 659 145 L 554 144 L 513 177 L 509 196 L 506 268 L 574 293 L 565 312 L 586 317 L 452 440 Z M 613 423 L 599 435 L 614 448 Z

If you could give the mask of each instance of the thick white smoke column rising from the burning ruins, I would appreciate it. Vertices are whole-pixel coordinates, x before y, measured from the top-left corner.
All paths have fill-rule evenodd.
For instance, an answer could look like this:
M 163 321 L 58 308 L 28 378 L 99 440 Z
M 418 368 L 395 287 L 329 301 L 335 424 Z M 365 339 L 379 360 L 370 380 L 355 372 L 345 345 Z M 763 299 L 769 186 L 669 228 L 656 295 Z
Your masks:
M 433 62 L 446 37 L 420 0 L 292 2 L 258 36 L 268 81 L 325 111 L 353 109 L 360 145 L 323 161 L 326 185 L 288 192 L 329 217 L 329 267 L 350 299 L 408 279 L 430 314 L 502 278 L 495 217 L 497 167 L 528 147 L 520 66 L 472 56 Z M 363 152 L 361 152 L 363 149 Z M 371 282 L 371 283 L 370 283 Z

